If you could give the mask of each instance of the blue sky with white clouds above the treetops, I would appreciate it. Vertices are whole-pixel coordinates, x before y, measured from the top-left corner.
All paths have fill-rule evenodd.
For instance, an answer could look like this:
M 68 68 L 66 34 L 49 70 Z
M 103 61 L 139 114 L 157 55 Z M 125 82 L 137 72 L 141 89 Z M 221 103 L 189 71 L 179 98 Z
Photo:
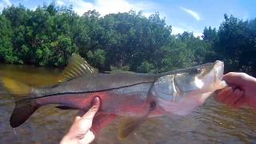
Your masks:
M 0 0 L 0 11 L 6 6 L 22 4 L 31 10 L 55 2 L 57 6 L 73 6 L 82 15 L 87 10 L 97 10 L 101 16 L 110 13 L 142 10 L 148 17 L 158 12 L 172 26 L 172 34 L 183 31 L 202 35 L 206 26 L 218 28 L 224 14 L 233 14 L 243 20 L 256 18 L 256 0 Z

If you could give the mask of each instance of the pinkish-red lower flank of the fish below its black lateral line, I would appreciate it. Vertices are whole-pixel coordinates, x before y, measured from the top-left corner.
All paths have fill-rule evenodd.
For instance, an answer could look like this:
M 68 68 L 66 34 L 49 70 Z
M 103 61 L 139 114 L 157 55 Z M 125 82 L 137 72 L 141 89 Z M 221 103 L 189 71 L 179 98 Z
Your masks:
M 43 106 L 47 104 L 59 104 L 75 109 L 88 110 L 92 106 L 95 97 L 101 99 L 100 112 L 103 114 L 117 114 L 120 116 L 141 117 L 150 109 L 150 103 L 146 98 L 138 95 L 117 95 L 107 92 L 89 94 L 62 94 L 37 98 L 36 102 Z M 154 110 L 152 116 L 158 116 L 158 110 Z

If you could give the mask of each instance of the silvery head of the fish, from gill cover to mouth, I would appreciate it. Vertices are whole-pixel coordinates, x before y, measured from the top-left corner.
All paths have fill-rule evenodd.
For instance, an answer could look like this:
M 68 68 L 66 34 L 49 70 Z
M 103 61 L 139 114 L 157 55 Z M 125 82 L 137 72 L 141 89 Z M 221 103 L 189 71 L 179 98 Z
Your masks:
M 224 63 L 216 61 L 162 74 L 154 83 L 155 101 L 165 114 L 190 114 L 215 90 L 222 89 Z

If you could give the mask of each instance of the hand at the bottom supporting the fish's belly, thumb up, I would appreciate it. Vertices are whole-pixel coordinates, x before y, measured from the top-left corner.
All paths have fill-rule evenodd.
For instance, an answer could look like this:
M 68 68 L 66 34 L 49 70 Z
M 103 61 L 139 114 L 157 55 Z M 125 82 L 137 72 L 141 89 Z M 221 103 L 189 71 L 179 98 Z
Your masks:
M 98 97 L 94 98 L 94 104 L 85 112 L 79 110 L 78 115 L 74 119 L 73 125 L 69 132 L 62 138 L 61 144 L 66 143 L 90 143 L 93 142 L 95 134 L 98 133 L 102 127 L 108 125 L 114 119 L 114 114 L 96 114 L 100 107 L 100 100 Z M 96 116 L 95 116 L 96 114 Z

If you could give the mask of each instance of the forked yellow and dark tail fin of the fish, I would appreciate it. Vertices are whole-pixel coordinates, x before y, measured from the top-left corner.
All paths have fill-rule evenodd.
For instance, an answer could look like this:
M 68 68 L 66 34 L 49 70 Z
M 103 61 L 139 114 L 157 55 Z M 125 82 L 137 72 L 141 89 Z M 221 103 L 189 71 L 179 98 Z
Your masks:
M 38 109 L 38 104 L 30 97 L 32 87 L 11 78 L 2 78 L 2 85 L 14 95 L 15 108 L 10 116 L 10 126 L 17 127 Z

